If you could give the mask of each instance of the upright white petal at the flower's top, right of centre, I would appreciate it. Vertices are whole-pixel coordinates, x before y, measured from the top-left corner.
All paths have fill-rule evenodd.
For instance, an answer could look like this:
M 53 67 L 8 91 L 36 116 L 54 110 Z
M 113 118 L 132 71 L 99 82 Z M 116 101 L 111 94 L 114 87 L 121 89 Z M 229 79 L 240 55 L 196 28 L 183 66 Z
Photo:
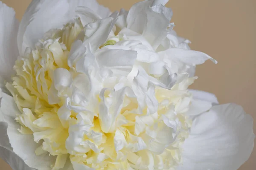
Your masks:
M 172 9 L 164 7 L 161 2 L 143 1 L 131 7 L 127 16 L 127 28 L 143 34 L 156 49 L 167 36 L 171 17 Z

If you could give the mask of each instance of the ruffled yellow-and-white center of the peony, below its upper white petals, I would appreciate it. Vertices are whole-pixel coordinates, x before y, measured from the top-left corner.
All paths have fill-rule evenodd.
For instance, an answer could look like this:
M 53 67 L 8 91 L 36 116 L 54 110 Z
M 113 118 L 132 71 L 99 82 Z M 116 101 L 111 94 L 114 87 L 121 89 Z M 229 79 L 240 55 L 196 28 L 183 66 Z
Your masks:
M 90 76 L 68 65 L 82 30 L 79 19 L 68 23 L 17 60 L 17 75 L 6 87 L 22 113 L 16 118 L 20 133 L 33 134 L 40 144 L 36 154 L 57 156 L 53 170 L 63 168 L 68 157 L 73 164 L 96 170 L 175 168 L 191 126 L 180 109 L 189 94 L 147 89 L 156 97 L 157 111 L 148 114 L 151 105 L 139 110 L 139 97 L 125 78 L 102 80 L 93 65 L 87 65 Z M 114 44 L 109 39 L 98 50 Z M 117 88 L 125 83 L 130 87 Z M 144 100 L 154 103 L 148 96 Z

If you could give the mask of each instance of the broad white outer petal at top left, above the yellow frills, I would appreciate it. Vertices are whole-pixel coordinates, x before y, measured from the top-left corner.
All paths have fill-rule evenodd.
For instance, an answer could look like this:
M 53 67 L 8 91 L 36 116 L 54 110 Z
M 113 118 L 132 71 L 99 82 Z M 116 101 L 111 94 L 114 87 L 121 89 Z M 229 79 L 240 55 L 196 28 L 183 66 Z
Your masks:
M 96 0 L 33 0 L 27 8 L 18 32 L 18 48 L 23 54 L 26 47 L 33 48 L 35 42 L 50 29 L 61 28 L 76 17 L 76 7 L 86 6 L 106 17 L 107 8 L 99 6 Z

